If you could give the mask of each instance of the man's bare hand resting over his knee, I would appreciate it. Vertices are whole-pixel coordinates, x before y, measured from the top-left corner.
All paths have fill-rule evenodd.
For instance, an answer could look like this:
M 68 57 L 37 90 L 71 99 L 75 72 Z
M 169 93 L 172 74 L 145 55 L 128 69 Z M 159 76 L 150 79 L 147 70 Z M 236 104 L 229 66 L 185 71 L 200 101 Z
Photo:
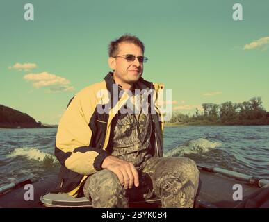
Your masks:
M 106 157 L 101 164 L 101 168 L 108 169 L 117 175 L 124 189 L 131 189 L 133 183 L 136 187 L 139 186 L 138 171 L 131 162 L 120 160 L 113 155 Z

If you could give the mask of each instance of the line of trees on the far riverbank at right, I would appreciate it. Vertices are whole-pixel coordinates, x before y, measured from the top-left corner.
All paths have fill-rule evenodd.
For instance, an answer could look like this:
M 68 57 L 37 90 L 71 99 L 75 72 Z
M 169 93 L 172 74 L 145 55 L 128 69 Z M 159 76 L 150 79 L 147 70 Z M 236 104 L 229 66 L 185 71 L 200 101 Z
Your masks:
M 261 97 L 254 97 L 243 103 L 231 101 L 215 104 L 203 103 L 203 111 L 196 108 L 195 114 L 173 112 L 169 123 L 268 125 L 269 112 L 262 106 Z

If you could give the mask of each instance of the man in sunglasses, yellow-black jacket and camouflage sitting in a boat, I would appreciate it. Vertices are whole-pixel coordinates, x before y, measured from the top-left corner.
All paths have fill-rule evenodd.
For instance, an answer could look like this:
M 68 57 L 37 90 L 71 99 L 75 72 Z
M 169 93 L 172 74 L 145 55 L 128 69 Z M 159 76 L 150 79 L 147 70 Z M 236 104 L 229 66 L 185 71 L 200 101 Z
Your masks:
M 193 207 L 199 171 L 188 158 L 162 157 L 163 122 L 156 99 L 163 85 L 141 77 L 144 51 L 135 36 L 111 42 L 113 72 L 70 101 L 56 135 L 59 192 L 85 195 L 93 207 L 128 207 L 129 200 L 152 196 L 161 198 L 162 207 Z

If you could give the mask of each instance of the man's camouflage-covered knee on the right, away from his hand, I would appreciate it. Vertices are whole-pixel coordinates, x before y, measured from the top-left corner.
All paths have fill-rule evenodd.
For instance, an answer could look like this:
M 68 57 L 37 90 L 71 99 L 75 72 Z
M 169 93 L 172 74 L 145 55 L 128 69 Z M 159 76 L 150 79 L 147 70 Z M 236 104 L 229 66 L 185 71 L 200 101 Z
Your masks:
M 154 191 L 163 207 L 193 207 L 199 183 L 199 171 L 188 158 L 168 158 L 158 165 Z

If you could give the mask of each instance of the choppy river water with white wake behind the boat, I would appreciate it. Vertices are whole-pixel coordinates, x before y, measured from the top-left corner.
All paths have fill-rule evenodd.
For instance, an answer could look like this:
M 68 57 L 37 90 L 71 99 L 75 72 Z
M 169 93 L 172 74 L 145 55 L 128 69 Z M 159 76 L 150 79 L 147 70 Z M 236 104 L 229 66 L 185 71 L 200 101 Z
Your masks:
M 56 130 L 0 129 L 0 187 L 28 173 L 58 172 Z M 165 156 L 269 179 L 269 126 L 166 127 L 164 146 Z

